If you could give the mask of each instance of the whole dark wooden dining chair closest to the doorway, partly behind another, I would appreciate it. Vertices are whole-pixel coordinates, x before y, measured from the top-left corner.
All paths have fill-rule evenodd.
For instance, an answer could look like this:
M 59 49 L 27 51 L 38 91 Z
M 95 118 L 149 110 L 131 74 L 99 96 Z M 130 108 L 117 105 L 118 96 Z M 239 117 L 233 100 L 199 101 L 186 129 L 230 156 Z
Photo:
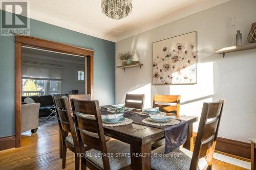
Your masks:
M 77 134 L 75 130 L 75 125 L 70 112 L 69 100 L 68 98 L 56 98 L 54 97 L 54 103 L 56 106 L 60 136 L 61 136 L 61 158 L 62 158 L 62 168 L 66 167 L 66 156 L 67 148 L 75 153 L 75 169 L 79 169 L 79 156 L 77 153 L 80 152 Z M 71 133 L 71 135 L 69 135 Z

